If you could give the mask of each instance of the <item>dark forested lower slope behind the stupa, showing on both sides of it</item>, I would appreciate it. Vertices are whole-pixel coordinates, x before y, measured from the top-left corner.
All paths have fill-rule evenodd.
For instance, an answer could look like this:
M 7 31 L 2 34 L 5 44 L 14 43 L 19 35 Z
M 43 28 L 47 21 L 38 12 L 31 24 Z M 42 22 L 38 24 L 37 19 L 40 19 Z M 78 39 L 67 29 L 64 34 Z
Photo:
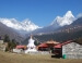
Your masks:
M 47 40 L 56 40 L 59 42 L 63 42 L 67 40 L 74 40 L 75 42 L 82 43 L 82 30 L 78 32 L 62 32 L 62 33 L 55 33 L 55 34 L 48 34 L 48 35 L 36 35 L 34 36 L 38 42 L 44 42 Z M 27 43 L 28 38 L 24 40 L 24 43 Z

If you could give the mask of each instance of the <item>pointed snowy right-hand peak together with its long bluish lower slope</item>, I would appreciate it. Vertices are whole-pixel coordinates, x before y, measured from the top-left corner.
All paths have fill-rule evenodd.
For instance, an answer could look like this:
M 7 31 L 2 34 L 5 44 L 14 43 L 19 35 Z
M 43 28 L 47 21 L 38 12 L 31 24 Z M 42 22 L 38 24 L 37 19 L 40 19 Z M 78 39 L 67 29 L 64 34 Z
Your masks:
M 73 16 L 72 12 L 68 11 L 62 17 L 57 16 L 49 26 L 38 28 L 34 30 L 33 34 L 43 35 L 54 33 L 60 27 L 72 24 L 74 20 L 75 17 Z

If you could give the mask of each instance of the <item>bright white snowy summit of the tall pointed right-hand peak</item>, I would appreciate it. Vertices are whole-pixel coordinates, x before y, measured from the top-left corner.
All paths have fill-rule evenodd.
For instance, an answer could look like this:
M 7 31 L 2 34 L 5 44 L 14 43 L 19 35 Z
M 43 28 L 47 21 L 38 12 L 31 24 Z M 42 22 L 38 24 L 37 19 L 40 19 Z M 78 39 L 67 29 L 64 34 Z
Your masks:
M 73 23 L 75 17 L 73 16 L 71 11 L 68 11 L 62 17 L 57 16 L 51 25 L 58 25 L 58 26 L 65 26 L 65 25 L 70 25 Z

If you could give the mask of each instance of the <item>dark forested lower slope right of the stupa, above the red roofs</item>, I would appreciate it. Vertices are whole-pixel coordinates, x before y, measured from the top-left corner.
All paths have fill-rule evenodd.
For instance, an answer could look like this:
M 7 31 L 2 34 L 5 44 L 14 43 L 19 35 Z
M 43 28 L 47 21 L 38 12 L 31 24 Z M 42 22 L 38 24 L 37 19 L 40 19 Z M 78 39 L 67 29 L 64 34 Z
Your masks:
M 55 33 L 55 34 L 48 34 L 48 35 L 42 35 L 42 36 L 35 36 L 37 39 L 40 41 L 46 41 L 46 40 L 57 40 L 57 41 L 66 41 L 66 40 L 74 40 L 80 37 L 82 37 L 82 30 L 79 32 L 70 32 L 70 33 Z

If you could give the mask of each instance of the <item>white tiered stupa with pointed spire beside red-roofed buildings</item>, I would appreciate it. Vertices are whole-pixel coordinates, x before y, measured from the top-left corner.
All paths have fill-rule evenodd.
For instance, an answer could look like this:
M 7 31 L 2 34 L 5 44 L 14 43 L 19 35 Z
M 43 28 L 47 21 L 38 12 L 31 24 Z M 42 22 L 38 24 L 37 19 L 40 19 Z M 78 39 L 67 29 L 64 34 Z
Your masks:
M 31 35 L 31 38 L 28 39 L 28 45 L 26 46 L 27 50 L 25 50 L 25 53 L 37 52 L 37 49 L 36 49 L 36 46 L 34 45 L 34 41 L 35 40 L 32 38 L 32 35 Z

